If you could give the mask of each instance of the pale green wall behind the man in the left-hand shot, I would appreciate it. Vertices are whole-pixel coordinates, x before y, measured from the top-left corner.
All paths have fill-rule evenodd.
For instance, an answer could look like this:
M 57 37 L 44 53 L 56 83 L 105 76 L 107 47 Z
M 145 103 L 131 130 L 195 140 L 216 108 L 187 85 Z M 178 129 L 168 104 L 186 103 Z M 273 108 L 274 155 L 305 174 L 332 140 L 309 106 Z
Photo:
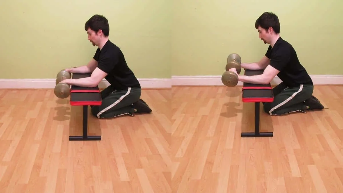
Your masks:
M 97 47 L 85 22 L 104 15 L 109 39 L 118 45 L 138 78 L 170 78 L 171 10 L 167 0 L 0 1 L 0 78 L 56 78 L 58 71 L 85 65 Z

